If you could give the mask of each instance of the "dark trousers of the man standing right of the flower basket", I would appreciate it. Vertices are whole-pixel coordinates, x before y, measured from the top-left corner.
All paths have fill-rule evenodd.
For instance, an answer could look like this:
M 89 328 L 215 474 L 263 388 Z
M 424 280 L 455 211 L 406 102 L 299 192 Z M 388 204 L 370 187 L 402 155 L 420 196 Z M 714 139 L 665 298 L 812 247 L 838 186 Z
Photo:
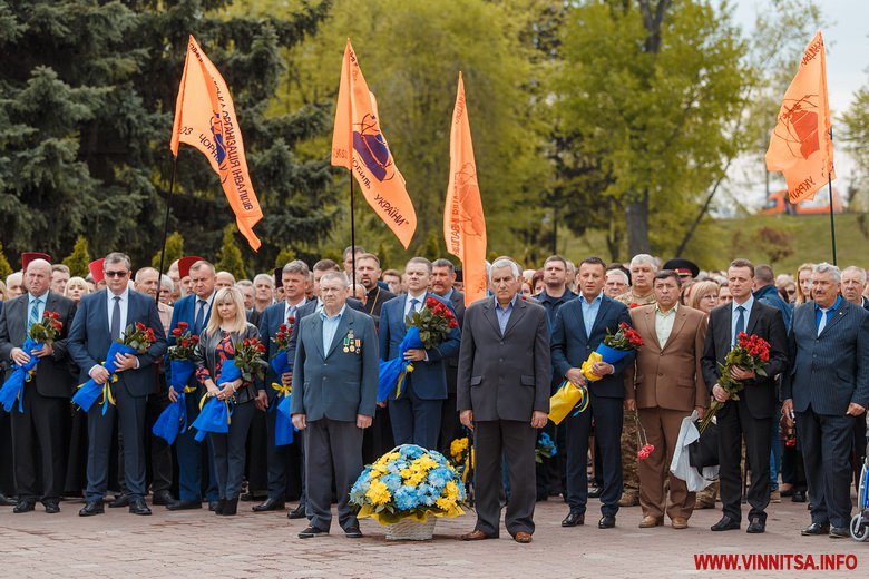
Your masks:
M 494 420 L 477 422 L 473 445 L 477 464 L 473 489 L 477 499 L 477 527 L 489 537 L 498 537 L 500 529 L 504 462 L 510 482 L 510 501 L 504 523 L 507 532 L 534 533 L 535 460 L 537 430 L 529 422 Z

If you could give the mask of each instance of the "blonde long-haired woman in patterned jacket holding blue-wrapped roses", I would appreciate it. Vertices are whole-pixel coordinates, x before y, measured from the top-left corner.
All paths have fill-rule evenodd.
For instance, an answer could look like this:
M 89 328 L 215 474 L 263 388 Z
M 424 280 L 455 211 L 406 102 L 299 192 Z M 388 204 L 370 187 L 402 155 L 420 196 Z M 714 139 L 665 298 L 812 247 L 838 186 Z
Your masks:
M 266 395 L 262 383 L 234 380 L 217 386 L 223 363 L 235 357 L 236 344 L 247 338 L 258 338 L 260 331 L 247 323 L 244 297 L 234 287 L 224 287 L 214 296 L 208 326 L 199 336 L 194 353 L 196 377 L 207 390 L 208 396 L 234 402 L 230 432 L 209 433 L 214 472 L 217 478 L 219 501 L 216 513 L 233 516 L 238 508 L 238 494 L 244 475 L 245 443 L 256 405 L 265 408 Z M 256 404 L 255 404 L 256 402 Z

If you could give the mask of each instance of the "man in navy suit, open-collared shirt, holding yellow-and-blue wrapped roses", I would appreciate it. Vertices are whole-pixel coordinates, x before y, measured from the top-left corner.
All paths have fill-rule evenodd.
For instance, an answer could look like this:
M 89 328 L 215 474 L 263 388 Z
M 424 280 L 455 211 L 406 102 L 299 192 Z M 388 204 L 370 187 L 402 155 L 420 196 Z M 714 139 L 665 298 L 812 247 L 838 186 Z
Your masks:
M 627 306 L 604 295 L 606 264 L 599 257 L 587 257 L 579 263 L 579 297 L 564 304 L 555 316 L 553 327 L 553 363 L 559 376 L 577 385 L 588 386 L 589 403 L 585 412 L 569 415 L 567 430 L 567 503 L 570 512 L 562 527 L 585 523 L 588 502 L 588 441 L 592 420 L 601 449 L 604 485 L 601 493 L 601 520 L 597 527 L 615 527 L 618 499 L 622 497 L 622 420 L 625 385 L 623 372 L 633 362 L 633 354 L 615 364 L 595 362 L 592 373 L 601 380 L 588 382 L 580 366 L 618 324 L 629 323 Z

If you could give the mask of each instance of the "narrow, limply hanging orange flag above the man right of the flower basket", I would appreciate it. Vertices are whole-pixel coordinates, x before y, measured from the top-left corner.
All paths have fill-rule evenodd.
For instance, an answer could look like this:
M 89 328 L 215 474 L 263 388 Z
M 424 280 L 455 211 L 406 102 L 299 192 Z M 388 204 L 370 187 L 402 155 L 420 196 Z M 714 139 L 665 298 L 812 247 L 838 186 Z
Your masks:
M 486 279 L 486 218 L 477 184 L 461 72 L 450 127 L 450 181 L 443 206 L 443 239 L 447 251 L 461 259 L 465 305 L 486 297 L 489 285 Z

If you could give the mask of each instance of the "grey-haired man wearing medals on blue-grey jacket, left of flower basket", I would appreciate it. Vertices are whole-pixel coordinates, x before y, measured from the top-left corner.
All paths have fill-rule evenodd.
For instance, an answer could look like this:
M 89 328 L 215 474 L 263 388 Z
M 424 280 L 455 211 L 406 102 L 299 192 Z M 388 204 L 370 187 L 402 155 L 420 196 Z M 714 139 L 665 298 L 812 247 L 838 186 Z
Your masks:
M 323 311 L 303 317 L 293 364 L 291 413 L 304 430 L 306 514 L 301 539 L 329 533 L 332 469 L 338 516 L 348 538 L 362 537 L 349 492 L 362 472 L 362 432 L 371 425 L 378 396 L 378 336 L 374 322 L 346 306 L 346 277 L 320 279 Z

